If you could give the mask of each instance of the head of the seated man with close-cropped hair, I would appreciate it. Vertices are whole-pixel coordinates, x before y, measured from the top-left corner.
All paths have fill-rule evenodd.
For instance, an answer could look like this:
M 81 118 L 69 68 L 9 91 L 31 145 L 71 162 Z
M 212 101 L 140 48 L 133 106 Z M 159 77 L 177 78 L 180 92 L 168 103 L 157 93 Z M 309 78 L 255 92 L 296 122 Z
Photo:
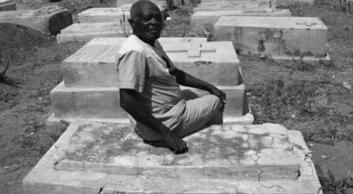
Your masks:
M 129 23 L 133 34 L 154 45 L 163 28 L 163 16 L 156 4 L 149 0 L 139 0 L 131 6 Z

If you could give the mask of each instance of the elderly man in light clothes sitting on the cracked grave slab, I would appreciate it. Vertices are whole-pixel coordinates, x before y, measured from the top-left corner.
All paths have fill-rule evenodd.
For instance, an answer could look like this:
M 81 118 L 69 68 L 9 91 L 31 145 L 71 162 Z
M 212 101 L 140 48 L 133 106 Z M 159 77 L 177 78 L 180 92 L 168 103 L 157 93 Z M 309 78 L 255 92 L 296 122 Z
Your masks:
M 222 124 L 225 93 L 173 65 L 157 41 L 163 18 L 156 4 L 135 2 L 129 23 L 133 34 L 122 44 L 117 65 L 120 106 L 133 117 L 135 131 L 145 143 L 184 153 L 188 147 L 183 137 Z M 210 95 L 185 100 L 179 84 Z

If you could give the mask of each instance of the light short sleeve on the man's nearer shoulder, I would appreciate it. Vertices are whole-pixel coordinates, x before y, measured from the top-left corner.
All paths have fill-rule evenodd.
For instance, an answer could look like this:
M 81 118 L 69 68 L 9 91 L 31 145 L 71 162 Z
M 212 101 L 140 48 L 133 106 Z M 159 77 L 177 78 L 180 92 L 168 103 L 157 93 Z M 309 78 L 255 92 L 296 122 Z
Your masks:
M 144 90 L 146 60 L 142 53 L 128 51 L 118 61 L 118 87 L 133 89 L 142 93 Z

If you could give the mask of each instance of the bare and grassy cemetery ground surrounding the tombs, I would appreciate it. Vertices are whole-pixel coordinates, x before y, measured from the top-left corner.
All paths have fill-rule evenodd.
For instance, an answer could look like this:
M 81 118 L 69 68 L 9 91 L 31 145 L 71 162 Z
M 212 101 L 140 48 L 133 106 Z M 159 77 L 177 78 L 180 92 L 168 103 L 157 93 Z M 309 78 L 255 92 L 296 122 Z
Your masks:
M 66 6 L 76 14 L 92 2 Z M 109 6 L 109 1 L 100 2 L 93 6 Z M 255 123 L 302 131 L 324 193 L 353 194 L 353 15 L 340 9 L 339 0 L 316 0 L 313 6 L 290 9 L 293 16 L 317 16 L 327 25 L 332 62 L 239 56 Z M 187 33 L 191 10 L 170 12 L 173 20 L 167 21 L 163 36 L 212 39 L 207 32 Z M 63 122 L 45 128 L 51 111 L 49 92 L 62 81 L 61 61 L 83 44 L 58 45 L 53 36 L 0 24 L 0 46 L 0 72 L 9 61 L 6 80 L 20 82 L 18 87 L 0 83 L 0 194 L 21 194 L 24 176 L 68 126 Z

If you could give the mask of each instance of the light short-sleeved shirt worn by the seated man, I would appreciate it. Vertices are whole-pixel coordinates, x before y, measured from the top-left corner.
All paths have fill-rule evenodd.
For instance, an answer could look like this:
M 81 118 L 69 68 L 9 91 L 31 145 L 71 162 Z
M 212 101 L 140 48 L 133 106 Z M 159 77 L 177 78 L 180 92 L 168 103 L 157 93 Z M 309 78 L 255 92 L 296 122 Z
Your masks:
M 152 47 L 136 35 L 130 35 L 118 52 L 118 87 L 141 93 L 142 99 L 139 101 L 144 104 L 144 111 L 151 113 L 169 129 L 174 129 L 180 124 L 186 105 L 176 77 L 169 73 L 175 66 L 160 43 L 156 41 Z M 143 130 L 139 126 L 144 125 L 130 119 L 137 130 Z

